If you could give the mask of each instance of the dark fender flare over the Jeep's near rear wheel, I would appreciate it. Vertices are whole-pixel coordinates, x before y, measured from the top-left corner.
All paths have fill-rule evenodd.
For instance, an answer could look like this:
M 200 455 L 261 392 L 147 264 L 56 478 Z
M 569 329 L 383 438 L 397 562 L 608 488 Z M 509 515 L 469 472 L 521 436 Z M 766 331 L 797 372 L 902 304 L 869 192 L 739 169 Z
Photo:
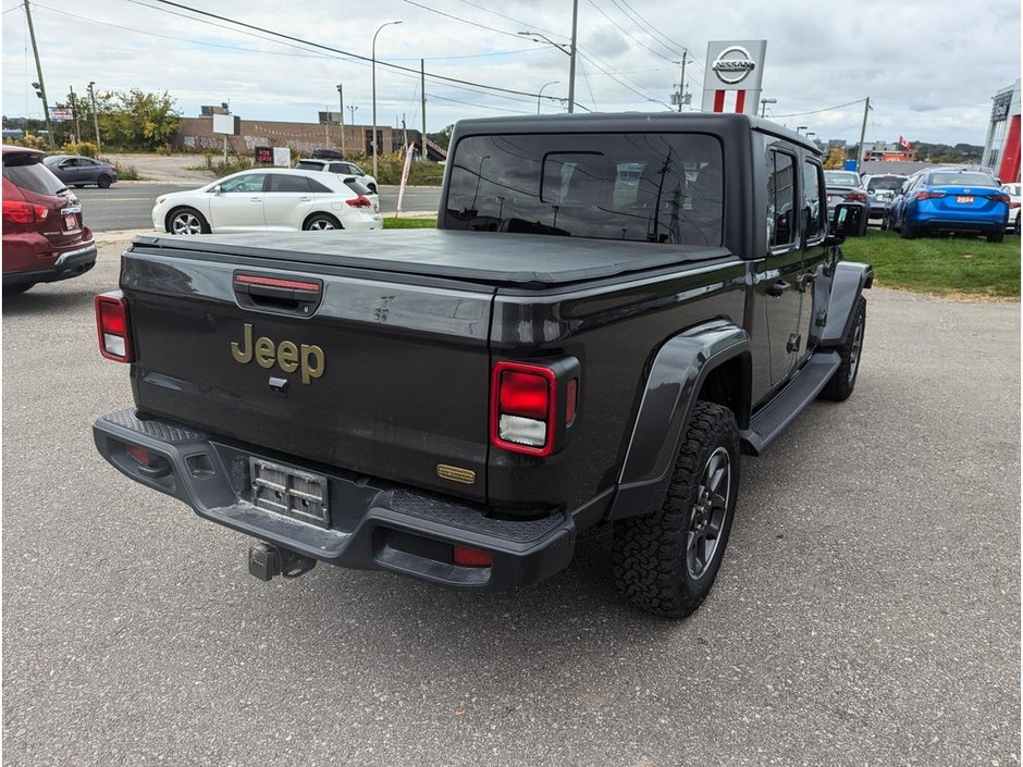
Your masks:
M 736 413 L 736 420 L 741 428 L 750 408 L 749 334 L 732 322 L 716 320 L 683 331 L 661 346 L 650 366 L 606 519 L 646 514 L 664 503 L 703 383 L 715 369 L 737 358 L 743 412 Z

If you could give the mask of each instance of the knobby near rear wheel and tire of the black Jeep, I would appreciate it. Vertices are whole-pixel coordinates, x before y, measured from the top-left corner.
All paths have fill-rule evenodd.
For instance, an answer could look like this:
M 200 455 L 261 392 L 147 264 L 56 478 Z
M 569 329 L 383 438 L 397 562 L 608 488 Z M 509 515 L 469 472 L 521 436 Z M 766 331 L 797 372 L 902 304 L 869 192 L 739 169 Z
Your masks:
M 738 493 L 736 418 L 719 405 L 697 403 L 664 505 L 615 524 L 613 572 L 623 595 L 668 618 L 695 610 L 720 568 Z M 702 559 L 694 557 L 701 549 Z

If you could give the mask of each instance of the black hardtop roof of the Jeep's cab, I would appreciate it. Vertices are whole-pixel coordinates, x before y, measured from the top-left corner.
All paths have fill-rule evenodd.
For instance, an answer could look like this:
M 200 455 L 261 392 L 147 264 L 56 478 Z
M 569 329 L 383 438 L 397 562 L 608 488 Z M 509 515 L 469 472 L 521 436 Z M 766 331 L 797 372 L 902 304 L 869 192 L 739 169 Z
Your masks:
M 821 149 L 794 131 L 749 114 L 714 112 L 603 112 L 543 114 L 515 117 L 472 117 L 455 123 L 455 135 L 522 133 L 619 133 L 692 131 L 715 135 L 762 131 L 819 153 Z

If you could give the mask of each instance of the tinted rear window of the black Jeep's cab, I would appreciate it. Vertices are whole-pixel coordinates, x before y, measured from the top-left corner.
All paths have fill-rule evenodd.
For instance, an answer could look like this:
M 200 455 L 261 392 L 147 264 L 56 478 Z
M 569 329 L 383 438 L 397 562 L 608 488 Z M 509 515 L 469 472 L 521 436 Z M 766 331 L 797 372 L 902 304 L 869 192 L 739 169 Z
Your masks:
M 702 134 L 469 136 L 445 227 L 722 244 L 722 147 Z

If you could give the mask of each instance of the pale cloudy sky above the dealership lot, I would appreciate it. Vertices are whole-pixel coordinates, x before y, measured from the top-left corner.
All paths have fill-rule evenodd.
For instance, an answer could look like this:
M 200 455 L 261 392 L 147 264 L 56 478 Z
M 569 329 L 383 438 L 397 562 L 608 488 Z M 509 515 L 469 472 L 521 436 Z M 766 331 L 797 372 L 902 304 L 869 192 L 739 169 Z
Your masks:
M 24 8 L 2 11 L 3 113 L 41 116 Z M 377 37 L 381 124 L 422 126 L 420 60 L 431 133 L 535 114 L 541 89 L 545 113 L 568 96 L 568 55 L 517 33 L 567 46 L 571 0 L 44 0 L 32 16 L 51 106 L 91 81 L 165 90 L 186 116 L 226 101 L 248 120 L 316 122 L 338 111 L 342 84 L 345 121 L 355 107 L 368 124 L 373 35 L 391 21 Z M 707 41 L 729 39 L 767 40 L 768 115 L 821 138 L 858 140 L 870 97 L 867 141 L 983 145 L 991 97 L 1020 76 L 1019 0 L 578 0 L 577 111 L 666 109 L 683 50 L 699 109 Z

